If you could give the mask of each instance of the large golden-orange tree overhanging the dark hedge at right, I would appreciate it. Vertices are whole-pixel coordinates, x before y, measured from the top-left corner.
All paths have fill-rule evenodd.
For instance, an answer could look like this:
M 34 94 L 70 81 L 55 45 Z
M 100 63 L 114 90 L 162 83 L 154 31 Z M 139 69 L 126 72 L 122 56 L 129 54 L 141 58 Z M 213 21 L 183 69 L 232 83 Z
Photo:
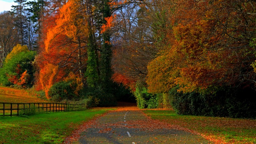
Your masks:
M 159 56 L 148 65 L 150 92 L 179 85 L 191 92 L 211 86 L 255 86 L 255 2 L 179 1 L 167 12 L 173 24 Z

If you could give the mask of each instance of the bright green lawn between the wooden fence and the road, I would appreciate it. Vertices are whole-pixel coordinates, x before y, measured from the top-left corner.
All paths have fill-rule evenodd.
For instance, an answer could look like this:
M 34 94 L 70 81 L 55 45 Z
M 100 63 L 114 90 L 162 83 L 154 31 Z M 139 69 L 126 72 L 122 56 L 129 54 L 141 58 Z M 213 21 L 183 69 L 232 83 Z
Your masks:
M 0 117 L 0 143 L 62 143 L 79 124 L 108 109 Z

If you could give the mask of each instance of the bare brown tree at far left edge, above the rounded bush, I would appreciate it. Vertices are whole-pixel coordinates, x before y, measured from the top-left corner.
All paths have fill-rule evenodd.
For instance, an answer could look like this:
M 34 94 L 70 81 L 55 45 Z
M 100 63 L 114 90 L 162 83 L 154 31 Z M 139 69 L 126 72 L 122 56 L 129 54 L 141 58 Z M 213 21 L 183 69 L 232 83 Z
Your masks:
M 1 66 L 4 58 L 12 48 L 18 44 L 18 30 L 14 24 L 15 17 L 10 12 L 0 13 L 0 60 Z

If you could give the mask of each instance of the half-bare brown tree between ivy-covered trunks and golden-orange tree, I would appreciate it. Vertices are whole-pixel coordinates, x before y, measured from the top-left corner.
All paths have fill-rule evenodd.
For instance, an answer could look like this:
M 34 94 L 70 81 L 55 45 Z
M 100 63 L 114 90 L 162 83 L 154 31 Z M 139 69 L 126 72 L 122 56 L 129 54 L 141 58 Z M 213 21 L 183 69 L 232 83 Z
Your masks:
M 116 12 L 116 24 L 113 28 L 113 70 L 115 76 L 122 75 L 129 79 L 133 90 L 136 81 L 145 81 L 147 64 L 157 53 L 153 21 L 149 14 L 146 5 L 141 2 L 127 4 Z M 120 80 L 116 78 L 113 77 L 115 81 Z

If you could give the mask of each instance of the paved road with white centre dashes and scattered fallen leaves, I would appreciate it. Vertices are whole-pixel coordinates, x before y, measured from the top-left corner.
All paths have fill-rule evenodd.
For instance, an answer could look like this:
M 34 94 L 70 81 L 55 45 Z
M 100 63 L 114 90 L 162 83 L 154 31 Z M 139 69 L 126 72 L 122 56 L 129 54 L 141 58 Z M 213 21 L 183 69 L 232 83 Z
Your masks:
M 140 110 L 117 110 L 100 117 L 80 134 L 83 144 L 210 143 L 203 137 L 175 130 L 145 116 Z

